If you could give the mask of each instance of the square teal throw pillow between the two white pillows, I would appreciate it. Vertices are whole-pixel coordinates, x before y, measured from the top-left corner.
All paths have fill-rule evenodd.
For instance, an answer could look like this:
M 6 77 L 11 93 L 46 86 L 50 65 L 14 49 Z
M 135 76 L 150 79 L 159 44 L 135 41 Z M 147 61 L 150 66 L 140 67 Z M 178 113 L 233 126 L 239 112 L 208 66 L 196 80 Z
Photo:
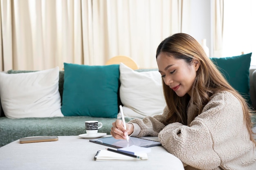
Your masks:
M 119 74 L 119 64 L 64 63 L 63 115 L 116 118 Z

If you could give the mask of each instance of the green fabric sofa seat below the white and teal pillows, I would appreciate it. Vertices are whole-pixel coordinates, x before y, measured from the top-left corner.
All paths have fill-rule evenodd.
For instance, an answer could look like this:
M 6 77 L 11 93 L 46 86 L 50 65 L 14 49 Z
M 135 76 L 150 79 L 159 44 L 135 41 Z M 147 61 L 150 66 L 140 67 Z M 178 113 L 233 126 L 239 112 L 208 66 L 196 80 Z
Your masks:
M 30 71 L 9 71 L 9 73 L 26 73 Z M 59 93 L 63 95 L 64 71 L 59 72 Z M 120 103 L 120 100 L 119 100 Z M 110 135 L 112 123 L 116 118 L 65 116 L 65 117 L 31 117 L 22 119 L 9 119 L 4 116 L 1 107 L 0 117 L 0 147 L 22 137 L 30 136 L 74 136 L 84 134 L 85 121 L 98 120 L 103 124 L 98 132 Z M 125 118 L 126 121 L 132 118 Z

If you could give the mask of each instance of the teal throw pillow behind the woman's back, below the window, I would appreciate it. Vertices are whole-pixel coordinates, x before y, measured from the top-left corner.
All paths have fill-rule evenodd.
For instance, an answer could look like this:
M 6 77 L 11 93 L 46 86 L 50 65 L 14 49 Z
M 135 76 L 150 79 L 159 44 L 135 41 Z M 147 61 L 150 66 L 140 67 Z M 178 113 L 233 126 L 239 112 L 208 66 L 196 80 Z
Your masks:
M 249 68 L 252 53 L 234 57 L 211 58 L 229 84 L 252 104 L 249 95 Z

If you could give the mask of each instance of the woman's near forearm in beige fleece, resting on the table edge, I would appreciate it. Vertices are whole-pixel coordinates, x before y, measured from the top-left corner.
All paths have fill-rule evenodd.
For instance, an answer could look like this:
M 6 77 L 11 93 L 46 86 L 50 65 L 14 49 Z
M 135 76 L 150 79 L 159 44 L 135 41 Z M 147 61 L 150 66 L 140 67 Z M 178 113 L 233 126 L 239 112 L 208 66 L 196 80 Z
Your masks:
M 162 146 L 183 163 L 198 169 L 213 169 L 220 165 L 220 157 L 212 148 L 211 134 L 202 122 L 191 127 L 169 124 L 159 132 L 158 138 Z

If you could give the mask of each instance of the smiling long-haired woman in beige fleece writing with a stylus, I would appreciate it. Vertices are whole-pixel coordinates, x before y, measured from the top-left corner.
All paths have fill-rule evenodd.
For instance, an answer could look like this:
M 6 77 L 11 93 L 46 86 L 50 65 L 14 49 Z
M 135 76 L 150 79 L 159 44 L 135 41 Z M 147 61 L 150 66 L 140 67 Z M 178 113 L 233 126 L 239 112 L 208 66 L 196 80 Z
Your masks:
M 162 115 L 112 124 L 116 139 L 158 136 L 185 170 L 254 170 L 256 148 L 247 103 L 190 35 L 174 34 L 156 53 L 166 108 Z

